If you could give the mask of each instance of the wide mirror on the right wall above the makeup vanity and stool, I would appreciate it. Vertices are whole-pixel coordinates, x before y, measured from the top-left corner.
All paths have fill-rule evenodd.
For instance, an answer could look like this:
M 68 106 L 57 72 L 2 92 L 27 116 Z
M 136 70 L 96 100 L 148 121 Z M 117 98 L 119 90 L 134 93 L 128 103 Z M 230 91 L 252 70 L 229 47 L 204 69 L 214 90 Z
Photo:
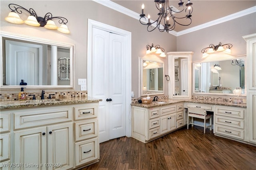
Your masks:
M 246 56 L 193 63 L 194 94 L 233 94 L 236 88 L 246 95 Z

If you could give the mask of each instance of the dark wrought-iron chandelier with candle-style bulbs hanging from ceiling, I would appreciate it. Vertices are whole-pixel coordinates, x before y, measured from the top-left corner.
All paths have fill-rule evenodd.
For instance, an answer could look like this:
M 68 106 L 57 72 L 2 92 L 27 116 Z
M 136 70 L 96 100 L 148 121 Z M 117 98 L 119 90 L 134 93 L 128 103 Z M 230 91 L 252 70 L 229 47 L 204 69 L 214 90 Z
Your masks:
M 188 0 L 188 3 L 186 4 L 186 7 L 184 7 L 184 2 L 180 0 L 178 3 L 178 8 L 175 8 L 174 6 L 169 5 L 169 0 L 154 0 L 156 3 L 156 8 L 158 9 L 159 13 L 158 18 L 154 22 L 150 22 L 150 15 L 148 14 L 148 23 L 145 23 L 142 21 L 142 18 L 146 20 L 145 14 L 144 14 L 144 4 L 142 4 L 142 14 L 140 14 L 140 23 L 143 25 L 148 25 L 147 30 L 153 31 L 154 29 L 158 28 L 160 32 L 166 31 L 172 31 L 175 28 L 175 24 L 178 23 L 183 26 L 190 25 L 192 23 L 191 14 L 193 12 L 192 3 L 190 0 Z M 175 16 L 176 13 L 181 13 L 185 11 L 185 16 L 178 17 Z M 183 20 L 180 20 L 183 19 Z M 179 20 L 179 21 L 178 21 Z M 180 23 L 182 21 L 182 23 Z M 162 24 L 161 24 L 162 22 Z M 154 26 L 154 27 L 152 27 Z

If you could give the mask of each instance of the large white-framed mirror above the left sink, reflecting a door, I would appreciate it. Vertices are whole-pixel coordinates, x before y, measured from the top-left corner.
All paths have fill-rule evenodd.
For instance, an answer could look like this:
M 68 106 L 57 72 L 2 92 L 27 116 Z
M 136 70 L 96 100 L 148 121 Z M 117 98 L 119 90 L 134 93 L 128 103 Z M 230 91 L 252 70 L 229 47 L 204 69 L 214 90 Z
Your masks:
M 74 45 L 0 31 L 1 90 L 73 89 Z M 24 85 L 23 85 L 24 86 Z

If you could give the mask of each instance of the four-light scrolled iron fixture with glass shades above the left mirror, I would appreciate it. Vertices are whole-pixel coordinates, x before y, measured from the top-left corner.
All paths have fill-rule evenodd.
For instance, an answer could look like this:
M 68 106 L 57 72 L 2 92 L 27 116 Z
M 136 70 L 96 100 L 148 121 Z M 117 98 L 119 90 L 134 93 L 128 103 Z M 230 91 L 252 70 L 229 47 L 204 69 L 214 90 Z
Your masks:
M 40 26 L 40 27 L 45 27 L 47 29 L 58 29 L 61 33 L 70 33 L 68 30 L 68 26 L 66 23 L 68 23 L 68 20 L 64 17 L 53 17 L 50 12 L 45 14 L 44 18 L 37 16 L 35 10 L 30 8 L 27 10 L 26 8 L 16 5 L 16 4 L 9 4 L 9 8 L 12 10 L 8 17 L 5 18 L 6 21 L 11 22 L 11 23 L 26 23 L 31 26 Z M 22 14 L 22 11 L 24 10 L 30 14 L 28 16 L 28 19 L 23 21 L 18 14 Z M 17 14 L 17 13 L 18 14 Z M 59 23 L 62 23 L 60 27 L 57 27 L 52 19 L 58 19 Z

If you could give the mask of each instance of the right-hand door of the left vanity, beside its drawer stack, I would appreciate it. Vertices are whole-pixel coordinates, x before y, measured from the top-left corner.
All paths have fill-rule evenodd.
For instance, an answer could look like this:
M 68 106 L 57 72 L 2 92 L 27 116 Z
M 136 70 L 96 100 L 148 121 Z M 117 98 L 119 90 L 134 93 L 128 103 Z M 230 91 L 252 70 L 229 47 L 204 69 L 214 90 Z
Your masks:
M 48 164 L 49 169 L 73 168 L 73 126 L 72 123 L 52 125 L 47 127 Z M 61 167 L 58 165 L 61 164 Z

